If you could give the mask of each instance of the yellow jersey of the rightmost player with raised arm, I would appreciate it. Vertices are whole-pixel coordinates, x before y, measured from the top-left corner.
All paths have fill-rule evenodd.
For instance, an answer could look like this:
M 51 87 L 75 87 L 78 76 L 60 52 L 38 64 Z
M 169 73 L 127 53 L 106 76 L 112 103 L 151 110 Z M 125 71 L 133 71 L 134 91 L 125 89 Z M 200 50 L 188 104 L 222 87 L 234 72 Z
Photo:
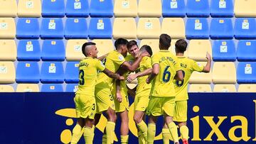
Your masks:
M 176 92 L 176 101 L 184 101 L 188 99 L 188 79 L 191 77 L 193 71 L 202 72 L 203 66 L 198 65 L 194 60 L 187 57 L 178 57 L 183 72 L 183 81 L 174 80 L 174 89 Z M 203 77 L 202 77 L 203 78 Z

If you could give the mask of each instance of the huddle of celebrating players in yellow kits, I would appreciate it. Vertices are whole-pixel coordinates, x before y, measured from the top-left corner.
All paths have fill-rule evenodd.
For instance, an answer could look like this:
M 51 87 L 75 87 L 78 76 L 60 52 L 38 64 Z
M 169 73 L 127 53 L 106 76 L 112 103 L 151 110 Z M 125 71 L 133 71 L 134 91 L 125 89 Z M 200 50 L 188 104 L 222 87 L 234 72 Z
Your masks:
M 114 143 L 117 114 L 121 118 L 121 143 L 128 143 L 128 123 L 132 121 L 128 118 L 128 96 L 135 95 L 133 119 L 139 143 L 154 143 L 157 118 L 164 116 L 164 143 L 172 138 L 178 144 L 179 128 L 183 144 L 188 144 L 188 79 L 193 71 L 210 72 L 211 57 L 207 52 L 207 64 L 198 65 L 183 56 L 187 48 L 185 40 L 176 41 L 176 55 L 169 51 L 170 46 L 171 37 L 166 34 L 160 35 L 159 52 L 154 54 L 149 45 L 139 48 L 135 40 L 119 38 L 114 51 L 97 58 L 97 45 L 83 44 L 85 59 L 80 61 L 80 81 L 74 98 L 78 123 L 73 128 L 71 143 L 78 143 L 82 133 L 85 143 L 93 143 L 95 126 L 102 113 L 107 115 L 102 143 Z M 127 84 L 134 79 L 138 81 L 137 87 L 129 89 Z

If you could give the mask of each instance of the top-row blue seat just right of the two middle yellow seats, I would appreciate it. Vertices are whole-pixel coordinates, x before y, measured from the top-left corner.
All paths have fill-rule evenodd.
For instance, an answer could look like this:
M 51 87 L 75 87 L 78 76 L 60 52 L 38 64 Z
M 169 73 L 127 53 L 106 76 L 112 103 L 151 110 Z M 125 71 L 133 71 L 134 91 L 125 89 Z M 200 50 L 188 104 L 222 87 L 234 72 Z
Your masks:
M 186 6 L 184 0 L 163 0 L 162 1 L 163 17 L 185 17 Z

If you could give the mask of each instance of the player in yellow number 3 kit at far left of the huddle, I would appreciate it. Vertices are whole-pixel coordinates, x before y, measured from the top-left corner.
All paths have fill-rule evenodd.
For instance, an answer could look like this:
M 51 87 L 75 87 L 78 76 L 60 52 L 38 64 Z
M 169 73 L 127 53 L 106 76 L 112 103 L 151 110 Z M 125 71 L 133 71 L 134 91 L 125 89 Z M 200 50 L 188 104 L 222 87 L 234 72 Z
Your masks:
M 84 43 L 82 45 L 82 53 L 85 59 L 79 64 L 79 84 L 78 92 L 75 93 L 75 110 L 78 117 L 78 123 L 73 128 L 71 143 L 78 143 L 80 133 L 84 128 L 85 143 L 92 143 L 94 137 L 93 118 L 96 112 L 95 105 L 95 83 L 97 79 L 97 71 L 100 70 L 107 74 L 108 77 L 115 79 L 124 79 L 124 77 L 115 74 L 105 68 L 105 65 L 97 60 L 97 48 L 95 43 Z

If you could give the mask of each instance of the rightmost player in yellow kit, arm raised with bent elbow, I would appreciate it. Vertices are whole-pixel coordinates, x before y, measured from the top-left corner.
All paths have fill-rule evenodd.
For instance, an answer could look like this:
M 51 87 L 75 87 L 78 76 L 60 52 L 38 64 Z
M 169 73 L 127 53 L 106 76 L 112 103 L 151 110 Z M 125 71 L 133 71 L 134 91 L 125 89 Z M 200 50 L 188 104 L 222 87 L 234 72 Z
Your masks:
M 176 56 L 181 64 L 184 79 L 182 81 L 174 81 L 174 88 L 176 91 L 174 121 L 178 123 L 183 144 L 188 144 L 188 127 L 186 126 L 187 111 L 188 111 L 188 79 L 191 74 L 196 72 L 210 72 L 210 54 L 206 53 L 207 63 L 206 66 L 198 65 L 196 61 L 184 57 L 184 52 L 187 48 L 185 40 L 178 40 L 175 44 Z M 165 125 L 162 134 L 164 144 L 169 143 L 169 131 L 166 130 Z

